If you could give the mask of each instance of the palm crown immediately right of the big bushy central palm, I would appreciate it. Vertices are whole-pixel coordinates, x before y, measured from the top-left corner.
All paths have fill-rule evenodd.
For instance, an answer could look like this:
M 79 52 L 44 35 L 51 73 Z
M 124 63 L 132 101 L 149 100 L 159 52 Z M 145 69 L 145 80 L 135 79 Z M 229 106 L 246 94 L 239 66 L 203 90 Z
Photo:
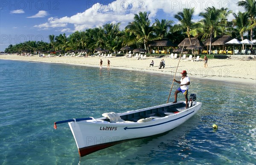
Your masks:
M 161 20 L 155 19 L 153 28 L 157 36 L 160 36 L 161 39 L 167 36 L 169 29 L 171 28 L 172 20 Z

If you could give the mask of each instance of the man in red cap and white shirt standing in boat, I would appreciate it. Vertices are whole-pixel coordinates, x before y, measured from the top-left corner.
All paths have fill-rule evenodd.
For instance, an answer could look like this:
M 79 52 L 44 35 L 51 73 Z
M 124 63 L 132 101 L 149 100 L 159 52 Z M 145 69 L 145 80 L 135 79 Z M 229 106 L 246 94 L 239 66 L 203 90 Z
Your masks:
M 186 108 L 187 108 L 188 107 L 188 91 L 189 91 L 190 79 L 187 76 L 186 70 L 183 70 L 181 72 L 181 74 L 182 74 L 182 77 L 181 77 L 180 81 L 177 81 L 174 79 L 175 82 L 180 84 L 180 87 L 174 93 L 175 101 L 173 103 L 177 103 L 177 94 L 179 92 L 182 92 L 186 99 Z

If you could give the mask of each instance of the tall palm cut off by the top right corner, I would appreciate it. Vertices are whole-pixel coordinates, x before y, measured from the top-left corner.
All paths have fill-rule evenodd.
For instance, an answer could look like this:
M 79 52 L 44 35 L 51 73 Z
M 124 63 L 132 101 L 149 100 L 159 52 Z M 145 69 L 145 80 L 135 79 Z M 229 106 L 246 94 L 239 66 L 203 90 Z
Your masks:
M 245 8 L 250 20 L 250 40 L 253 40 L 253 28 L 256 27 L 256 0 L 241 0 L 236 3 Z M 251 48 L 253 45 L 251 45 Z

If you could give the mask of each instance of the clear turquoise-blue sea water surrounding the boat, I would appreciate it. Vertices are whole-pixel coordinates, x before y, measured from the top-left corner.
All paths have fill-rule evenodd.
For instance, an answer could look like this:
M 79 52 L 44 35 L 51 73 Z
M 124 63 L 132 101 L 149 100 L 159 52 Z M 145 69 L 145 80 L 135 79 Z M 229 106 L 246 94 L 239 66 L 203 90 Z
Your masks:
M 177 79 L 179 79 L 178 77 Z M 67 123 L 166 103 L 172 76 L 0 60 L 1 165 L 254 165 L 256 88 L 190 77 L 203 106 L 176 129 L 79 157 Z M 177 89 L 174 84 L 173 93 Z M 183 95 L 178 95 L 178 101 Z M 218 129 L 212 129 L 217 124 Z

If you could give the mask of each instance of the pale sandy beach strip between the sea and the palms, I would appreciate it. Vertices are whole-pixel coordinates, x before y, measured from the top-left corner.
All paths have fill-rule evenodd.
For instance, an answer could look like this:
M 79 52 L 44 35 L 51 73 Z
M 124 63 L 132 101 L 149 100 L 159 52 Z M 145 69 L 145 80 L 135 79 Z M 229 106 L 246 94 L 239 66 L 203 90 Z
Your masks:
M 38 56 L 17 56 L 17 55 L 0 55 L 0 59 L 23 60 L 34 62 L 48 62 L 60 64 L 74 64 L 88 67 L 99 67 L 100 59 L 103 61 L 103 69 L 107 69 L 107 60 L 111 61 L 111 69 L 138 70 L 140 73 L 149 72 L 157 74 L 170 75 L 173 78 L 178 59 L 147 57 L 146 59 L 137 60 L 125 57 L 38 57 Z M 164 69 L 159 69 L 161 59 L 165 60 Z M 154 67 L 149 67 L 154 60 Z M 212 79 L 217 81 L 226 81 L 233 83 L 256 85 L 256 61 L 255 60 L 238 60 L 238 59 L 209 59 L 208 68 L 204 68 L 203 59 L 200 61 L 186 61 L 180 59 L 176 76 L 180 76 L 181 70 L 187 70 L 190 78 Z M 179 77 L 180 78 L 180 77 Z

